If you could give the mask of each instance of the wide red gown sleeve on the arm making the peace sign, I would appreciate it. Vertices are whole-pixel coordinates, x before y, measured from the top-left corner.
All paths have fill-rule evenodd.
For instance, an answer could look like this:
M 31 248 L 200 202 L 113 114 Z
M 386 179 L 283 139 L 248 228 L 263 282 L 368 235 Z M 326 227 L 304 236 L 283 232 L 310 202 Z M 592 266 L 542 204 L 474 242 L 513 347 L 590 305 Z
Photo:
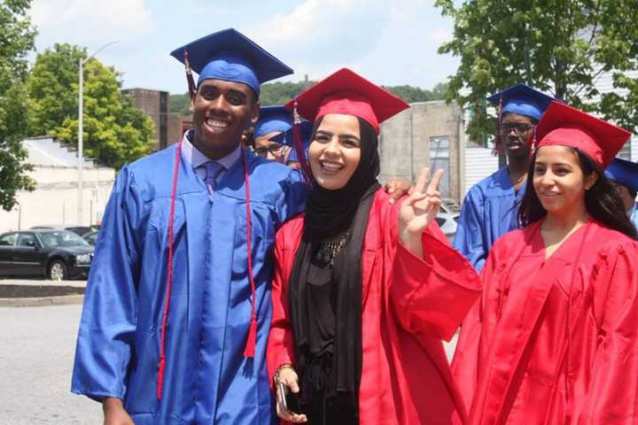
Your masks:
M 390 222 L 398 223 L 398 208 L 392 215 Z M 397 227 L 390 227 L 395 240 Z M 480 295 L 478 274 L 447 243 L 436 222 L 425 229 L 422 243 L 423 259 L 397 243 L 390 277 L 393 310 L 408 332 L 448 341 Z

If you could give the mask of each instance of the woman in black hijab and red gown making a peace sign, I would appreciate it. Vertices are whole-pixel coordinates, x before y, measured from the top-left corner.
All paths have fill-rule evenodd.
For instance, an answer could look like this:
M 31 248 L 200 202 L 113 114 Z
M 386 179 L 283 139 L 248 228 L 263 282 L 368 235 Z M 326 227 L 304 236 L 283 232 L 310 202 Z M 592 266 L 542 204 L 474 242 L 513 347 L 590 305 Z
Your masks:
M 441 339 L 480 293 L 478 275 L 433 220 L 440 174 L 397 205 L 377 174 L 378 125 L 408 108 L 342 69 L 298 97 L 313 120 L 314 188 L 276 236 L 268 369 L 300 390 L 312 424 L 447 424 L 464 417 Z

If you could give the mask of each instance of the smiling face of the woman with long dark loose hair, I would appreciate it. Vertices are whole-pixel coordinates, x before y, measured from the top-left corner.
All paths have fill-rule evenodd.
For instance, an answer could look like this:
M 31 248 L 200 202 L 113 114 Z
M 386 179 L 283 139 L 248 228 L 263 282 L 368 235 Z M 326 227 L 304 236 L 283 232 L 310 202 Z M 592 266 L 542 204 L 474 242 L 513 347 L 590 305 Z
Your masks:
M 584 175 L 578 155 L 564 146 L 543 146 L 534 161 L 533 187 L 548 213 L 586 211 L 585 192 L 596 177 Z

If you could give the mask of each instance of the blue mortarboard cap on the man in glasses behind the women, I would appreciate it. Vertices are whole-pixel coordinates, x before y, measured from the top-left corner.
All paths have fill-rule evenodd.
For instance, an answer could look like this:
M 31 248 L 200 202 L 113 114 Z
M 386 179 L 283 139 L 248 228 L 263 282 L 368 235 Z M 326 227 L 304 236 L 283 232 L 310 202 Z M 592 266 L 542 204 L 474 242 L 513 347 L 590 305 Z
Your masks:
M 525 84 L 517 84 L 487 97 L 487 100 L 495 106 L 502 103 L 502 113 L 518 113 L 541 120 L 543 112 L 556 99 Z

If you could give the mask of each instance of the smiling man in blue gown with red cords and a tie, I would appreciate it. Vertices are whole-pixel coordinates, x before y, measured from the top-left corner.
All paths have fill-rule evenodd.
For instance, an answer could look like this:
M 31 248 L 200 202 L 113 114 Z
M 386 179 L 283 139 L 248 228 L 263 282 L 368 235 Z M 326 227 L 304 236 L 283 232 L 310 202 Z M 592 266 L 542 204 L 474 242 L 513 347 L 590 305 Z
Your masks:
M 257 120 L 261 82 L 292 70 L 233 29 L 172 55 L 199 74 L 194 128 L 121 169 L 72 390 L 102 401 L 105 423 L 268 424 L 271 249 L 307 188 L 291 168 L 246 154 L 240 139 Z

